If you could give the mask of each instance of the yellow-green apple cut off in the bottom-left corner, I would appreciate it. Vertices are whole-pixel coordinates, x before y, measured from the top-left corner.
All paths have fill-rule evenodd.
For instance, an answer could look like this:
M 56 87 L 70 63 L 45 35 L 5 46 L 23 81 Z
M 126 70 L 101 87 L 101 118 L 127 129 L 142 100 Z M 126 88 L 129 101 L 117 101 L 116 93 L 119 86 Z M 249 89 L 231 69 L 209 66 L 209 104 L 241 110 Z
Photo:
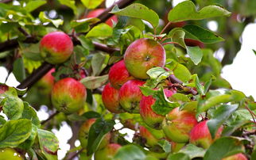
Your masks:
M 24 158 L 21 156 L 21 154 L 18 154 L 17 151 L 12 148 L 1 148 L 0 159 L 23 160 Z

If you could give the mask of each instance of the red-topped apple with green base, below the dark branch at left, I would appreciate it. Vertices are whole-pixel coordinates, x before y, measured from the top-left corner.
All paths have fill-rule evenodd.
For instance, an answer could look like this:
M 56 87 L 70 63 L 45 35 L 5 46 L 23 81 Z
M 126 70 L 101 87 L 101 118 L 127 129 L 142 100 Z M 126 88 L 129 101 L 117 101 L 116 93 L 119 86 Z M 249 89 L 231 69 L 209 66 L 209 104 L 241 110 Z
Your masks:
M 86 88 L 74 78 L 60 79 L 52 88 L 52 105 L 67 114 L 83 108 L 86 97 Z

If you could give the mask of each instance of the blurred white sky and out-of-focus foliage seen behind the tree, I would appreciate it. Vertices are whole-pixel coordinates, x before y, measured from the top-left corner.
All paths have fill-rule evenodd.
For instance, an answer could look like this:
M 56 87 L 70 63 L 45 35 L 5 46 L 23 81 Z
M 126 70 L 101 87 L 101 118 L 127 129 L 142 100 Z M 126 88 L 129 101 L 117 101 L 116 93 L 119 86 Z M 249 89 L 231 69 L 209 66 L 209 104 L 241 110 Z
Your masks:
M 100 7 L 105 8 L 111 6 L 114 0 L 106 0 Z M 176 6 L 182 0 L 141 0 L 136 1 L 148 6 L 150 9 L 156 11 L 161 17 L 160 30 L 166 24 L 167 14 L 169 10 Z M 200 76 L 200 81 L 204 82 L 206 79 L 213 74 L 215 76 L 215 82 L 213 87 L 222 88 L 233 88 L 235 90 L 241 90 L 246 96 L 256 97 L 256 1 L 254 0 L 193 0 L 196 6 L 200 9 L 204 6 L 217 4 L 223 6 L 225 9 L 231 11 L 231 17 L 216 17 L 207 19 L 204 21 L 184 21 L 182 23 L 176 23 L 171 26 L 170 29 L 175 27 L 181 27 L 182 25 L 194 24 L 200 25 L 206 29 L 210 29 L 216 32 L 219 36 L 222 36 L 225 40 L 217 44 L 199 44 L 201 48 L 211 48 L 212 55 L 215 59 L 208 59 L 204 63 L 200 63 L 198 67 L 189 67 L 189 63 L 186 65 L 192 74 L 197 73 Z M 13 1 L 14 5 L 21 5 L 18 1 Z M 76 1 L 78 6 L 77 10 L 82 15 L 88 10 L 84 10 L 81 6 L 80 0 Z M 53 10 L 54 9 L 54 10 Z M 62 6 L 57 0 L 48 0 L 48 5 L 41 6 L 38 10 L 35 10 L 33 14 L 37 15 L 41 10 L 48 10 L 48 17 L 61 18 L 64 19 L 64 25 L 62 28 L 64 31 L 68 32 L 70 21 L 73 18 L 72 10 L 66 6 Z M 0 25 L 0 33 L 5 32 L 1 30 L 2 25 Z M 150 26 L 147 26 L 150 31 Z M 1 41 L 5 38 L 2 37 Z M 0 54 L 1 56 L 2 54 Z M 0 57 L 1 58 L 1 57 Z M 17 86 L 19 82 L 15 73 L 10 70 L 10 66 L 7 61 L 2 61 L 0 59 L 0 82 L 5 83 L 9 86 Z M 30 66 L 29 66 L 30 65 Z M 29 67 L 38 66 L 40 64 L 27 63 L 27 70 Z M 202 69 L 204 68 L 204 70 Z M 31 68 L 30 68 L 31 69 Z M 33 89 L 31 89 L 33 90 Z M 37 90 L 36 90 L 37 92 Z M 38 101 L 35 97 L 35 101 Z M 28 100 L 33 101 L 34 100 Z M 38 116 L 41 120 L 46 120 L 48 116 L 52 113 L 48 110 L 48 101 L 41 101 L 35 105 L 38 109 Z M 61 118 L 60 118 L 61 120 Z M 52 131 L 56 134 L 60 140 L 60 150 L 59 158 L 64 158 L 67 150 L 69 150 L 70 145 L 68 144 L 68 139 L 72 137 L 72 129 L 69 125 L 64 122 L 60 123 L 60 128 L 52 128 Z M 121 128 L 120 124 L 116 124 L 115 128 Z M 122 130 L 123 133 L 129 133 L 126 138 L 128 140 L 132 139 L 134 132 L 127 128 Z M 80 142 L 77 140 L 75 146 L 78 147 Z

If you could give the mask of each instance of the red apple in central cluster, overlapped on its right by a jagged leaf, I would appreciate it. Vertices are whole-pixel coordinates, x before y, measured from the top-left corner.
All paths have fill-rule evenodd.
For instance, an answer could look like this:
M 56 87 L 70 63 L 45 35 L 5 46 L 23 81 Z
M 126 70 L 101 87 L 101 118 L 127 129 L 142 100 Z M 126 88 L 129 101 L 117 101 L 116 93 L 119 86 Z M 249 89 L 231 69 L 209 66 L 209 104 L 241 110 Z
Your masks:
M 171 97 L 173 95 L 173 92 L 170 90 L 165 89 L 164 92 L 166 97 Z M 153 112 L 151 107 L 155 101 L 156 99 L 152 96 L 142 96 L 142 101 L 140 102 L 140 114 L 142 120 L 144 120 L 145 124 L 150 128 L 161 129 L 161 123 L 165 119 L 165 116 Z

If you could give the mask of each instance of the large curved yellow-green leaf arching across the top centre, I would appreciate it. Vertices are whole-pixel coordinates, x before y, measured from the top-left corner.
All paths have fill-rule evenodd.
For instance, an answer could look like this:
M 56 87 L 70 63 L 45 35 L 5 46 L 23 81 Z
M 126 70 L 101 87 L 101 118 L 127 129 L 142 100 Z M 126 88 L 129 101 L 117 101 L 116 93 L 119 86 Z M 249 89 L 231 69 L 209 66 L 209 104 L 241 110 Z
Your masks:
M 134 3 L 130 6 L 126 6 L 126 8 L 122 10 L 119 10 L 118 6 L 114 6 L 113 10 L 111 10 L 111 13 L 117 14 L 119 16 L 135 17 L 145 21 L 149 21 L 149 23 L 153 25 L 153 28 L 156 28 L 159 23 L 159 17 L 157 13 L 139 3 Z

